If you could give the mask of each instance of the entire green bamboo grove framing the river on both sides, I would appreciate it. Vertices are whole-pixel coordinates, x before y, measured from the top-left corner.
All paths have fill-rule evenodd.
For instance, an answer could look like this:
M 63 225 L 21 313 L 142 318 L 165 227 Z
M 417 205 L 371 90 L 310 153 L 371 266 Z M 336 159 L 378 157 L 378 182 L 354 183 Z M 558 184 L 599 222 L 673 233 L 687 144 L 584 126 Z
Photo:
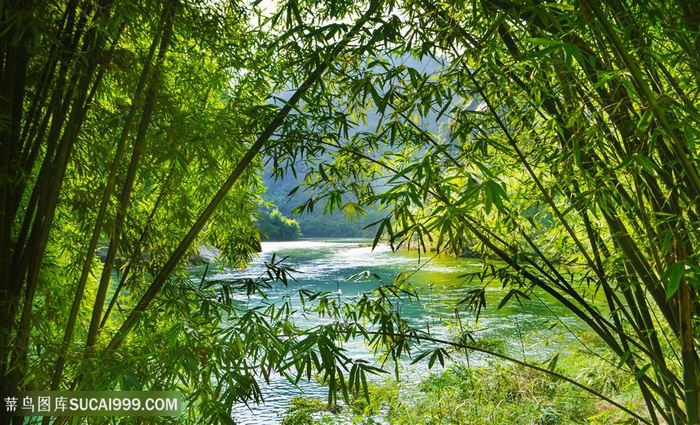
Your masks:
M 375 244 L 480 255 L 460 314 L 489 285 L 553 297 L 636 381 L 634 420 L 699 421 L 700 5 L 269 7 L 2 2 L 3 390 L 180 389 L 188 420 L 232 422 L 273 372 L 321 373 L 329 404 L 366 391 L 380 371 L 342 350 L 358 335 L 395 359 L 470 348 L 408 327 L 401 288 L 300 329 L 232 297 L 283 264 L 190 281 L 199 246 L 253 254 L 266 158 L 314 189 L 300 211 L 379 208 Z

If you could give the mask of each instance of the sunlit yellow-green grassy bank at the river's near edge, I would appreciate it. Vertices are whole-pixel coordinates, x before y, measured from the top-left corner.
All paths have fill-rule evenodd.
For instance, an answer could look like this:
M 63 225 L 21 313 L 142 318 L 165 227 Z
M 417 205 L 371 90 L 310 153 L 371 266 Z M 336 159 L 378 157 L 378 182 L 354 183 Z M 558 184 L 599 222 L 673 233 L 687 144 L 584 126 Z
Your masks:
M 557 371 L 616 401 L 643 411 L 633 379 L 602 361 L 569 356 Z M 517 365 L 464 364 L 433 372 L 419 383 L 371 385 L 370 402 L 357 399 L 341 412 L 322 401 L 297 400 L 285 425 L 301 424 L 611 424 L 636 423 L 619 409 L 552 376 Z M 287 421 L 287 418 L 293 418 Z

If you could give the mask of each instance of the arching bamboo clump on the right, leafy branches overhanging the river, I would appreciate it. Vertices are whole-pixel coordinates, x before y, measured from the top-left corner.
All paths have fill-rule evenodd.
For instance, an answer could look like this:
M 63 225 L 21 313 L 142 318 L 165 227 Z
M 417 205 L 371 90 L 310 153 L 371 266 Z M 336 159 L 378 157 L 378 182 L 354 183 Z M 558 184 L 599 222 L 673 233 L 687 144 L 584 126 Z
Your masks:
M 500 259 L 484 284 L 584 321 L 636 379 L 638 420 L 697 422 L 697 7 L 393 6 L 381 48 L 348 51 L 267 147 L 317 190 L 302 207 L 379 204 L 375 243 Z M 367 111 L 381 118 L 358 131 Z

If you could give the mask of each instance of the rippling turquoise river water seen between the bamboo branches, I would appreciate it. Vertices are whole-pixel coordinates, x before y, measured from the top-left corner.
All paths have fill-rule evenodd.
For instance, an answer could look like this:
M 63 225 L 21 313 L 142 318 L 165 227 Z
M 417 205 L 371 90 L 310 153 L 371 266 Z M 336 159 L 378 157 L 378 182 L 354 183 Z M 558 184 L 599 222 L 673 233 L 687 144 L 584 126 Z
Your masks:
M 460 312 L 462 326 L 470 327 L 477 339 L 499 341 L 508 355 L 521 360 L 545 360 L 564 347 L 571 349 L 576 344 L 576 339 L 567 329 L 583 329 L 577 319 L 567 315 L 564 309 L 547 301 L 542 295 L 540 297 L 543 300 L 525 301 L 522 307 L 514 301 L 497 309 L 507 291 L 496 282 L 487 288 L 487 307 L 481 312 L 477 323 L 473 315 L 458 303 L 464 299 L 469 289 L 482 286 L 476 281 L 469 283 L 460 277 L 480 270 L 482 265 L 479 261 L 446 256 L 429 258 L 423 255 L 419 258 L 415 252 L 392 252 L 387 246 L 377 246 L 372 250 L 367 241 L 263 243 L 259 258 L 244 272 L 226 271 L 210 278 L 221 280 L 257 277 L 264 273 L 265 262 L 270 261 L 273 254 L 278 259 L 287 257 L 283 264 L 296 270 L 293 273 L 295 281 L 287 287 L 275 285 L 268 292 L 266 301 L 261 297 L 247 298 L 241 295 L 240 301 L 250 307 L 262 302 L 298 300 L 297 293 L 300 289 L 333 292 L 338 297 L 349 300 L 378 284 L 376 280 L 348 280 L 352 275 L 369 271 L 378 275 L 383 283 L 389 283 L 397 273 L 412 273 L 409 281 L 415 287 L 419 299 L 404 302 L 401 313 L 415 326 L 430 330 L 431 335 L 441 339 L 450 338 L 450 328 L 455 323 L 455 308 Z M 557 326 L 553 326 L 557 323 Z M 309 326 L 312 324 L 309 323 Z M 345 348 L 355 358 L 368 359 L 378 365 L 362 341 L 351 342 Z M 470 355 L 470 362 L 483 365 L 487 364 L 487 359 L 474 354 Z M 429 372 L 425 364 L 410 365 L 406 361 L 402 373 L 404 379 L 418 381 Z M 279 423 L 292 397 L 306 395 L 325 398 L 326 390 L 315 382 L 302 382 L 296 388 L 284 378 L 275 377 L 269 386 L 263 384 L 263 394 L 266 400 L 264 404 L 235 407 L 236 423 Z

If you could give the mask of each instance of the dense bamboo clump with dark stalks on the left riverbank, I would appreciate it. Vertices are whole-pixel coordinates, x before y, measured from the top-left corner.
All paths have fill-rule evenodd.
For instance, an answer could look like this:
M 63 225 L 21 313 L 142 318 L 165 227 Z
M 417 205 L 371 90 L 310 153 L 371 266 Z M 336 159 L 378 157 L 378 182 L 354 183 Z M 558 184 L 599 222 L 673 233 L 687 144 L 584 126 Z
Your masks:
M 2 391 L 179 389 L 193 423 L 259 400 L 306 333 L 234 293 L 286 272 L 213 287 L 187 260 L 209 245 L 241 267 L 259 245 L 257 154 L 377 5 L 358 6 L 333 5 L 356 24 L 299 52 L 286 38 L 310 28 L 273 36 L 253 4 L 2 2 Z M 299 53 L 307 68 L 287 79 Z

